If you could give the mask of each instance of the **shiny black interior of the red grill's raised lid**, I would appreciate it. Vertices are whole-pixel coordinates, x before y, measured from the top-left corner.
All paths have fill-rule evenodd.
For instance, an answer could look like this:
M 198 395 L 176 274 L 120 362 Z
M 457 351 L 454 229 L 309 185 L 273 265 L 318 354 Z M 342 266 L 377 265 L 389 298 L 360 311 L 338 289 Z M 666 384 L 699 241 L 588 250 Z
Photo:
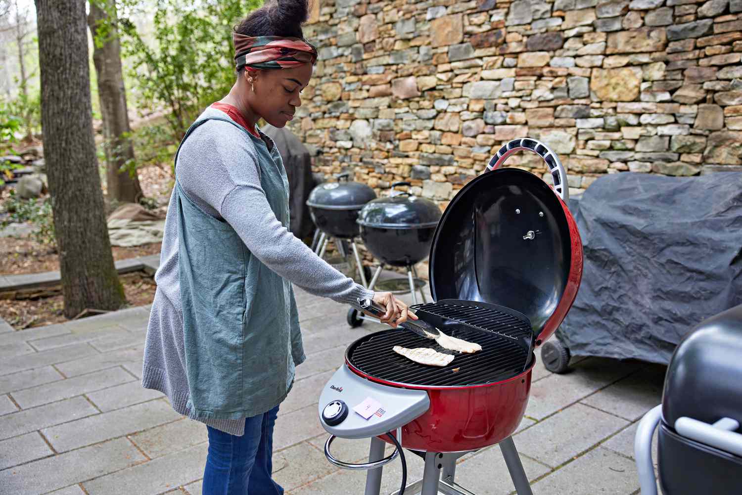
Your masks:
M 518 168 L 479 175 L 456 194 L 430 248 L 436 301 L 465 299 L 522 312 L 538 335 L 562 298 L 569 226 L 554 191 Z

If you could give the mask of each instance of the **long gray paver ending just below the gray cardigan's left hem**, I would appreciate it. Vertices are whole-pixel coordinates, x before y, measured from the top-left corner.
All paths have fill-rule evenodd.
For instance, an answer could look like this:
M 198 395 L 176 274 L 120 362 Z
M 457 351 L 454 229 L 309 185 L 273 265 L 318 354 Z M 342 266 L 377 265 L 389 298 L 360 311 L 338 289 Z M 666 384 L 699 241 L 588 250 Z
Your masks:
M 180 417 L 167 401 L 157 400 L 45 428 L 42 433 L 57 452 L 66 452 L 146 430 Z

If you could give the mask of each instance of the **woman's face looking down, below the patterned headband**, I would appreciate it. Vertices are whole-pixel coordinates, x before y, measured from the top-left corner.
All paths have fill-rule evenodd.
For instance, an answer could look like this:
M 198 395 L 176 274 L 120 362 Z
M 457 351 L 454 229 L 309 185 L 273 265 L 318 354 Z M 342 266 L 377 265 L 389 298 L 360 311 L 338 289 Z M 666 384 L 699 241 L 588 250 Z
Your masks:
M 309 84 L 313 68 L 306 63 L 288 69 L 246 71 L 245 76 L 253 79 L 250 107 L 273 127 L 282 128 L 301 106 L 301 91 Z

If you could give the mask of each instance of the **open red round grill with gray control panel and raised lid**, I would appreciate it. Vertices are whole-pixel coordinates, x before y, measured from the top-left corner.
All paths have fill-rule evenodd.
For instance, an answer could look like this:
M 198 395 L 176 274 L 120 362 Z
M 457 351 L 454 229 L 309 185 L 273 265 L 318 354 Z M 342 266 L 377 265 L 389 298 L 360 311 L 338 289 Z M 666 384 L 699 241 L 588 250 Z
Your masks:
M 562 199 L 527 171 L 498 169 L 520 150 L 544 158 Z M 518 493 L 531 493 L 510 435 L 528 402 L 533 350 L 554 333 L 577 295 L 582 245 L 563 201 L 564 168 L 545 145 L 514 140 L 488 168 L 493 171 L 453 198 L 433 236 L 430 286 L 437 302 L 414 306 L 422 320 L 482 351 L 428 367 L 395 355 L 392 347 L 440 350 L 435 341 L 403 330 L 375 332 L 348 347 L 345 366 L 321 393 L 319 413 L 329 433 L 372 437 L 365 465 L 335 459 L 333 436 L 325 449 L 336 465 L 371 470 L 366 495 L 379 493 L 380 466 L 394 457 L 381 459 L 383 441 L 425 458 L 424 477 L 407 487 L 408 494 L 433 495 L 439 488 L 470 493 L 453 481 L 456 458 L 496 443 Z M 369 419 L 349 411 L 370 399 L 378 410 Z

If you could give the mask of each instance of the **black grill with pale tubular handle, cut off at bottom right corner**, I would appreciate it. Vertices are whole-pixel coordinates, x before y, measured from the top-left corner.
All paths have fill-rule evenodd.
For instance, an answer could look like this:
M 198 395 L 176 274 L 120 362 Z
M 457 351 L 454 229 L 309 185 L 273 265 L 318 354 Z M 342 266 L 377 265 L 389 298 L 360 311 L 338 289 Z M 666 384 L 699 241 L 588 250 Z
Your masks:
M 662 404 L 634 440 L 642 495 L 742 494 L 742 305 L 703 321 L 672 355 Z

